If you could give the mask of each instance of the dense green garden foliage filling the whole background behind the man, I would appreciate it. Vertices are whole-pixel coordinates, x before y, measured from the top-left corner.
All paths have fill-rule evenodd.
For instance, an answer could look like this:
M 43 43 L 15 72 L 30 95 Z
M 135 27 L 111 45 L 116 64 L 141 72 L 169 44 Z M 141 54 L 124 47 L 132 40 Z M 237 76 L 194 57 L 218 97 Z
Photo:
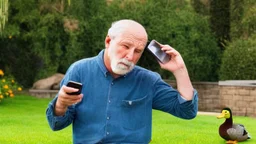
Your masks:
M 1 0 L 0 69 L 24 88 L 65 74 L 105 48 L 119 19 L 177 49 L 194 82 L 256 79 L 255 0 Z M 174 80 L 148 51 L 138 65 Z

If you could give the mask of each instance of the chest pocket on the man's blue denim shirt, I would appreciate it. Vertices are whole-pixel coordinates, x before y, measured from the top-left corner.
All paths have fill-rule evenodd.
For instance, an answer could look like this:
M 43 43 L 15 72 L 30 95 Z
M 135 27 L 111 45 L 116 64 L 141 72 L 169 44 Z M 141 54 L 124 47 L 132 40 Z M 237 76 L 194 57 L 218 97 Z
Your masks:
M 134 100 L 122 100 L 122 126 L 125 129 L 136 130 L 146 125 L 147 95 Z

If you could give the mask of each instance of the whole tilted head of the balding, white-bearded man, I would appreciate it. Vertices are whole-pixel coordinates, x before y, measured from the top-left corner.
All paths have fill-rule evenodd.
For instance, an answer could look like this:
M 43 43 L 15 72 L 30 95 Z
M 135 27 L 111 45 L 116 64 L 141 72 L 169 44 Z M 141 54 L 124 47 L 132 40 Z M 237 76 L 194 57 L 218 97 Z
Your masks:
M 112 74 L 124 75 L 139 61 L 147 43 L 145 28 L 133 20 L 114 22 L 105 39 L 104 62 Z

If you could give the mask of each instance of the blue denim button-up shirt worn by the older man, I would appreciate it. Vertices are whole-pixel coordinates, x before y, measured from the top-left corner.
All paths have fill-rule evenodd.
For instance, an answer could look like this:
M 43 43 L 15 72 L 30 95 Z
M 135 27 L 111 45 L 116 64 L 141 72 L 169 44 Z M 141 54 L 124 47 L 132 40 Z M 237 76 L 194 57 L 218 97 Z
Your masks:
M 83 84 L 82 101 L 68 108 L 64 116 L 54 115 L 57 96 L 47 108 L 47 119 L 53 130 L 73 124 L 75 144 L 140 143 L 151 139 L 152 109 L 183 119 L 197 114 L 198 96 L 184 100 L 160 75 L 135 66 L 128 74 L 114 79 L 98 56 L 83 59 L 70 66 L 61 85 L 69 80 Z

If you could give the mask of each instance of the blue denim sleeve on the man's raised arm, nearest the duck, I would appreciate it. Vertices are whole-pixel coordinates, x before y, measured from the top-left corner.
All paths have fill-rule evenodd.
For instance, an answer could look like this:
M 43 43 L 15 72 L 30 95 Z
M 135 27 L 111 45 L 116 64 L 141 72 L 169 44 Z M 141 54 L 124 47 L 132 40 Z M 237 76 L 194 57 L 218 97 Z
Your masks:
M 198 111 L 198 93 L 194 89 L 193 99 L 186 100 L 180 93 L 164 82 L 158 79 L 153 88 L 153 108 L 170 113 L 183 119 L 192 119 L 196 117 Z

